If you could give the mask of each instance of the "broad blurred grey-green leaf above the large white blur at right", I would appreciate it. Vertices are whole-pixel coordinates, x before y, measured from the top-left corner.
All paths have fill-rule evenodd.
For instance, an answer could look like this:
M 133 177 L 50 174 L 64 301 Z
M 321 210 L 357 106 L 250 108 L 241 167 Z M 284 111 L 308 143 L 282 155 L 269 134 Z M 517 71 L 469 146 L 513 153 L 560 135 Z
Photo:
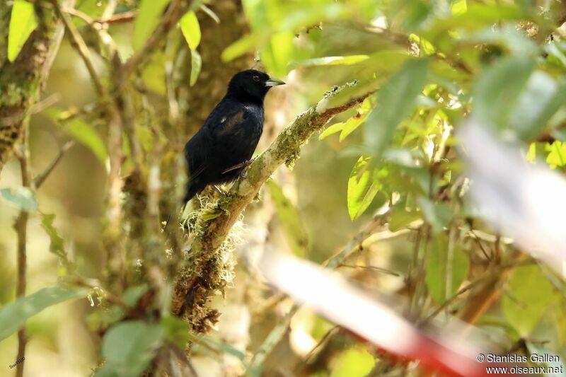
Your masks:
M 509 124 L 534 68 L 529 57 L 504 57 L 487 67 L 473 89 L 473 117 L 495 129 Z

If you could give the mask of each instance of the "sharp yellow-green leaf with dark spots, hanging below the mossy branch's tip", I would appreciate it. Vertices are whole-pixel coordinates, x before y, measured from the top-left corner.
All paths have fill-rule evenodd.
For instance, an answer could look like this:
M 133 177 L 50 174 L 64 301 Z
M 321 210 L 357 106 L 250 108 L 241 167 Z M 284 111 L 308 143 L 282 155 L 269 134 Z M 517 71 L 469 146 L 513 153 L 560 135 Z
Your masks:
M 352 221 L 366 211 L 383 188 L 382 179 L 388 175 L 386 168 L 373 168 L 370 162 L 371 157 L 361 156 L 348 179 L 348 213 Z

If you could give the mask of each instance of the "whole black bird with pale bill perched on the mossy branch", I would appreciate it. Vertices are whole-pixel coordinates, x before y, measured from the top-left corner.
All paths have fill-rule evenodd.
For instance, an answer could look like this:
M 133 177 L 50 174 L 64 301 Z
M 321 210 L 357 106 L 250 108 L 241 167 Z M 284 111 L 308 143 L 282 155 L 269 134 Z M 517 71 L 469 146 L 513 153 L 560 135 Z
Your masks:
M 188 202 L 207 185 L 238 178 L 253 156 L 263 131 L 263 99 L 283 81 L 248 69 L 230 80 L 224 98 L 185 145 Z

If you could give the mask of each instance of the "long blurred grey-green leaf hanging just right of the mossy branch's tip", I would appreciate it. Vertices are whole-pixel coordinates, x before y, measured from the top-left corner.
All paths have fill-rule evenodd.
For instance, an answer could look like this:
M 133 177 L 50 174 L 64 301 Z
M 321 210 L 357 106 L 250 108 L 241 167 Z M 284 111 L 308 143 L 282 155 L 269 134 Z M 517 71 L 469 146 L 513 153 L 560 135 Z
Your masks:
M 415 108 L 417 95 L 427 82 L 428 61 L 408 59 L 390 76 L 378 93 L 377 107 L 366 120 L 365 137 L 374 156 L 383 153 L 395 127 Z

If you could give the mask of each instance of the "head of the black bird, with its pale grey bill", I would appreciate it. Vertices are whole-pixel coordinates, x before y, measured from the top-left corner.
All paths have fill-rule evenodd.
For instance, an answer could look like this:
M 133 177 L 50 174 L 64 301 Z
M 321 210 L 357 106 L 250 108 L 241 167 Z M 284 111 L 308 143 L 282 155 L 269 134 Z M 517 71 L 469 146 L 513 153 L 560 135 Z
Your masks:
M 282 84 L 284 81 L 272 79 L 264 72 L 248 69 L 233 76 L 228 84 L 228 93 L 239 98 L 263 100 L 272 86 Z

